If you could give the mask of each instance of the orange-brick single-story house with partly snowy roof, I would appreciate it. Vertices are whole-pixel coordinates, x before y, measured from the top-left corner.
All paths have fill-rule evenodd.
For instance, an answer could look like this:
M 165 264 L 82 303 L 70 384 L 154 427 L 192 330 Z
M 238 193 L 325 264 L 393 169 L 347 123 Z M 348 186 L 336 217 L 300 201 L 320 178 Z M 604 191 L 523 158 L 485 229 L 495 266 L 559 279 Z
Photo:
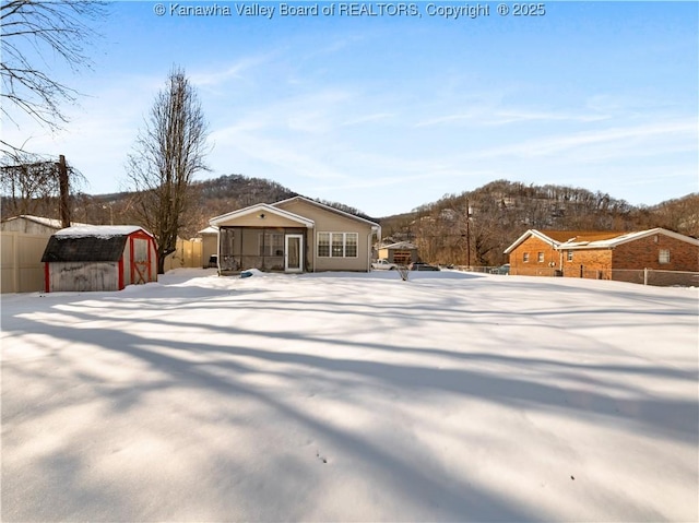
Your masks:
M 631 233 L 530 229 L 505 250 L 510 274 L 637 281 L 639 271 L 699 272 L 699 239 L 663 228 Z

